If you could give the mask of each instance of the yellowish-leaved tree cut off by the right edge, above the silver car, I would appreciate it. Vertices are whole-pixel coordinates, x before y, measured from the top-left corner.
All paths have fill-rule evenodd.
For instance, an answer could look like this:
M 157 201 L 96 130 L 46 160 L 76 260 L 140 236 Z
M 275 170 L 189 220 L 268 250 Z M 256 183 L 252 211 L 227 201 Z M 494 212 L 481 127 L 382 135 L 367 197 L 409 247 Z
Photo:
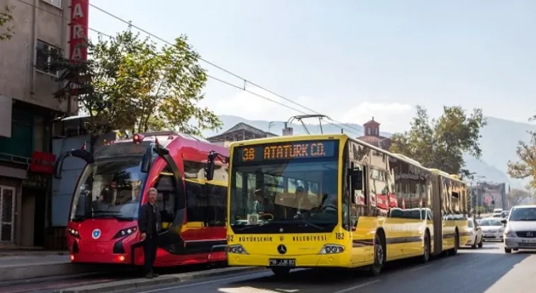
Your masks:
M 536 120 L 536 115 L 529 121 Z M 536 132 L 529 131 L 530 144 L 519 141 L 516 154 L 519 161 L 508 161 L 508 174 L 516 179 L 532 177 L 529 186 L 536 188 Z

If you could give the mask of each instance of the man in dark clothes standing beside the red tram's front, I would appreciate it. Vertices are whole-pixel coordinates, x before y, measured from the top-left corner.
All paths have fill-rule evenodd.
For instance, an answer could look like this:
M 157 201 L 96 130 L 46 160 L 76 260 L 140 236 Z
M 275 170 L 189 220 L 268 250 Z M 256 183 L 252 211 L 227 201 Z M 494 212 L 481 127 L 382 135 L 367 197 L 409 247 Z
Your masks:
M 156 248 L 158 247 L 158 232 L 160 232 L 161 227 L 161 216 L 160 210 L 156 206 L 156 195 L 158 194 L 156 188 L 149 188 L 147 194 L 149 195 L 149 202 L 142 205 L 140 209 L 138 225 L 140 226 L 142 240 L 144 240 L 145 278 L 152 279 L 158 277 L 158 274 L 153 271 L 153 264 L 156 258 Z

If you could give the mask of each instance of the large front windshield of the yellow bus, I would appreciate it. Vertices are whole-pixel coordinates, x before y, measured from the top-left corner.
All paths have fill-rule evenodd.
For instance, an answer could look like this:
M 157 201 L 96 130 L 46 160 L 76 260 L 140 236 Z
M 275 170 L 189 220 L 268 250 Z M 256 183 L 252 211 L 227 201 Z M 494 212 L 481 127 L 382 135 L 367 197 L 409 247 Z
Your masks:
M 309 147 L 309 155 L 316 154 L 315 145 L 301 144 Z M 269 152 L 277 151 L 273 146 L 235 148 L 230 186 L 232 230 L 253 234 L 332 230 L 338 220 L 338 142 L 320 145 L 324 156 L 302 153 L 299 158 L 284 158 L 284 153 L 278 157 Z M 284 146 L 279 147 L 284 151 Z M 288 151 L 291 153 L 292 147 Z

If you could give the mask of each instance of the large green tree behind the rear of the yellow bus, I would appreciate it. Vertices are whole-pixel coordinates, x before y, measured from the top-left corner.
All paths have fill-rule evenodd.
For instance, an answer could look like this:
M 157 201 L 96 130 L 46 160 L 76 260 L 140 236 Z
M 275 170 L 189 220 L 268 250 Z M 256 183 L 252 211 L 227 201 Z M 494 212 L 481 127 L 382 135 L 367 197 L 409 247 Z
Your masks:
M 389 151 L 402 153 L 426 167 L 470 177 L 469 170 L 463 169 L 463 153 L 468 152 L 475 158 L 482 156 L 478 141 L 480 129 L 485 125 L 481 109 L 468 115 L 460 106 L 445 106 L 436 120 L 429 117 L 424 107 L 417 105 L 410 130 L 392 135 Z

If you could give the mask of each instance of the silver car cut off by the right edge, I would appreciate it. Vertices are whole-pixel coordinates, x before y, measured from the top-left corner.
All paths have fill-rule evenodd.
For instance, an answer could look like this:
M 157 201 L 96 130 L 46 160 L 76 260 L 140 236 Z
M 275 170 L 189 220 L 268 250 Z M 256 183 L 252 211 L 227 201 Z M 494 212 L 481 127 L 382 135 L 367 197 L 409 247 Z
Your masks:
M 501 222 L 506 224 L 505 253 L 536 250 L 536 205 L 514 206 L 509 217 Z

